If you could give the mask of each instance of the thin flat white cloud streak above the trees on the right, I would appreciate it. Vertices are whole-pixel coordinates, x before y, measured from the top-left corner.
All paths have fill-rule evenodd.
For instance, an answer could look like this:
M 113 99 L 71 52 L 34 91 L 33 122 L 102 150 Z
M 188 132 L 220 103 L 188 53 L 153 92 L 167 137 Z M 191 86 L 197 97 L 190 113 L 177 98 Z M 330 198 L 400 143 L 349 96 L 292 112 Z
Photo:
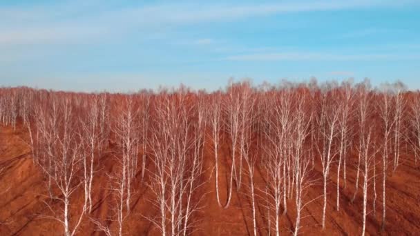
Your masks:
M 369 60 L 404 60 L 420 59 L 420 55 L 358 54 L 338 55 L 313 52 L 265 53 L 233 55 L 225 57 L 227 61 L 369 61 Z

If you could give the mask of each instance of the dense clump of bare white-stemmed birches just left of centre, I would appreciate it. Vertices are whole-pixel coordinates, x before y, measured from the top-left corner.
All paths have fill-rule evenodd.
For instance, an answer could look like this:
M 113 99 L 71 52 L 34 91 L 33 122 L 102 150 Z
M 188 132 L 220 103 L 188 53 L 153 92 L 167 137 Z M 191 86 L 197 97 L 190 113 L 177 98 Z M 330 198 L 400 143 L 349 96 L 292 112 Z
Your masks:
M 151 189 L 160 215 L 149 219 L 162 235 L 185 235 L 193 223 L 191 214 L 198 208 L 192 197 L 200 186 L 204 111 L 189 104 L 192 101 L 182 88 L 175 94 L 161 92 L 155 102 L 155 122 L 151 126 L 155 171 L 151 173 Z M 197 115 L 195 126 L 191 114 Z

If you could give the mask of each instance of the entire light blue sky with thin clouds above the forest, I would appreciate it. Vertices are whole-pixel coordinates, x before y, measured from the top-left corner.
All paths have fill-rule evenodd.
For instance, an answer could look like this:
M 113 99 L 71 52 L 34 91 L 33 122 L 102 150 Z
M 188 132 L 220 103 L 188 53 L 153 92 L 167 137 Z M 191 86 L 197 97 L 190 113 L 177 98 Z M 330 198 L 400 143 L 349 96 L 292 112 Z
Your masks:
M 0 86 L 365 77 L 420 89 L 420 1 L 0 1 Z

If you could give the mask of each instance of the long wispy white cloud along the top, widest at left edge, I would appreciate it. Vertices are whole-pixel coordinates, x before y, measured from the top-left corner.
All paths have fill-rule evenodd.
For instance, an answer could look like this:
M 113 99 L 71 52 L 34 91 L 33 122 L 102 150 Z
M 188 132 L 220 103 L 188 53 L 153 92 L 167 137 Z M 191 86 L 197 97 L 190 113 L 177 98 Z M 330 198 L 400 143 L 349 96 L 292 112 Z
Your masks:
M 234 21 L 292 12 L 401 6 L 414 1 L 286 1 L 281 3 L 173 3 L 118 8 L 106 3 L 55 3 L 1 8 L 0 46 L 21 43 L 73 43 L 182 24 Z M 108 3 L 109 4 L 109 3 Z M 205 41 L 204 41 L 205 43 Z

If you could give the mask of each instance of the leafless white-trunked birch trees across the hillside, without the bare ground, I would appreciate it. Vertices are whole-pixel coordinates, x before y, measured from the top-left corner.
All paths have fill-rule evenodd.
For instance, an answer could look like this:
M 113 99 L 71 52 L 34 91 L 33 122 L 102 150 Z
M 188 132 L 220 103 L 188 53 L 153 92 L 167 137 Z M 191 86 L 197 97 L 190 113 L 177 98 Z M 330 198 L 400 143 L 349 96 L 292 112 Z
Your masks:
M 193 232 L 204 197 L 200 188 L 208 181 L 203 178 L 204 148 L 213 152 L 216 195 L 211 197 L 228 208 L 233 191 L 249 196 L 254 235 L 279 235 L 287 206 L 295 208 L 292 233 L 298 235 L 300 213 L 314 201 L 305 197 L 316 181 L 314 169 L 323 176 L 325 228 L 326 210 L 340 210 L 351 164 L 356 171 L 351 201 L 363 197 L 364 235 L 369 213 L 381 214 L 379 230 L 385 230 L 388 175 L 403 156 L 416 164 L 420 157 L 420 93 L 406 92 L 401 83 L 372 89 L 369 81 L 276 86 L 240 81 L 211 93 L 181 86 L 131 94 L 0 88 L 0 121 L 28 130 L 33 161 L 46 177 L 49 197 L 60 203 L 57 214 L 45 217 L 57 219 L 65 235 L 77 234 L 84 221 L 106 235 L 123 235 L 132 195 L 140 187 L 152 190 L 155 197 L 147 201 L 158 212 L 142 217 L 162 235 Z M 226 146 L 225 202 L 218 165 Z M 109 178 L 115 214 L 107 219 L 117 222 L 111 226 L 90 216 L 92 186 L 105 152 L 112 153 L 117 166 Z M 257 165 L 265 186 L 255 181 Z M 327 193 L 332 170 L 336 199 Z M 84 193 L 84 204 L 70 210 L 76 191 Z M 327 201 L 336 208 L 327 209 Z M 257 206 L 265 208 L 262 221 L 256 219 Z

